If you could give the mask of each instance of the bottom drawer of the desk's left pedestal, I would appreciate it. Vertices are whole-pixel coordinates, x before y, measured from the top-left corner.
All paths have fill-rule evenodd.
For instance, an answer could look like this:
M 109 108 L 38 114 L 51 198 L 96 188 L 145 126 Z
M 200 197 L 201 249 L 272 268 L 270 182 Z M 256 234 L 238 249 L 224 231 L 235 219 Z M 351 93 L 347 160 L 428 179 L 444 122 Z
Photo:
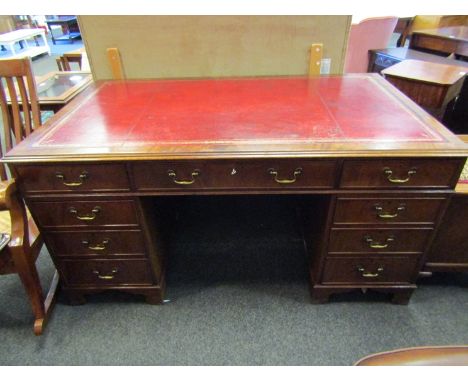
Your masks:
M 152 272 L 145 259 L 62 260 L 59 262 L 68 286 L 151 285 Z

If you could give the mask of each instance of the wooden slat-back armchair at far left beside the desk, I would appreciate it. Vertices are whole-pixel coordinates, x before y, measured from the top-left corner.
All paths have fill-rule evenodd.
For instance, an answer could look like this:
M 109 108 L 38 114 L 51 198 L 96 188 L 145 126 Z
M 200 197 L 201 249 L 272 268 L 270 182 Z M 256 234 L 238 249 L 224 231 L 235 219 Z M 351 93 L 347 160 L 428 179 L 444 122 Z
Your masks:
M 10 107 L 8 99 L 11 102 Z M 8 151 L 41 123 L 29 58 L 0 60 L 0 105 L 5 148 Z M 3 155 L 1 148 L 0 155 Z M 0 251 L 0 274 L 19 275 L 32 305 L 34 333 L 39 335 L 54 301 L 58 275 L 54 275 L 50 291 L 44 300 L 35 266 L 43 241 L 36 224 L 28 216 L 15 181 L 7 179 L 7 171 L 3 165 L 0 166 L 0 211 L 0 229 L 11 237 L 8 245 Z

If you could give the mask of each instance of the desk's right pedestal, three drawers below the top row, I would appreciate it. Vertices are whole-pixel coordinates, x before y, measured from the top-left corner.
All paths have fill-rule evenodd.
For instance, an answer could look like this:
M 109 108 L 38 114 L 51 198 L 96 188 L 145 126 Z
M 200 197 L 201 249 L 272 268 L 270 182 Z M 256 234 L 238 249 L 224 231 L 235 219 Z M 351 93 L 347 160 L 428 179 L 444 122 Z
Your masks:
M 343 194 L 333 197 L 323 246 L 311 262 L 317 303 L 333 293 L 373 289 L 406 304 L 447 195 Z

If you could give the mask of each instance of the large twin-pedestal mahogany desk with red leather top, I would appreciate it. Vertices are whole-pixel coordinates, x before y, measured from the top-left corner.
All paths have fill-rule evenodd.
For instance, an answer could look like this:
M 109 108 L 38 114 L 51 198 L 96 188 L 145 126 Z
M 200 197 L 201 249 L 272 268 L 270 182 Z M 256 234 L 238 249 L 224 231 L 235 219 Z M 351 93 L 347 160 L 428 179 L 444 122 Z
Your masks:
M 4 160 L 74 302 L 162 301 L 158 196 L 315 194 L 300 209 L 313 300 L 372 288 L 407 303 L 467 155 L 366 74 L 101 82 Z

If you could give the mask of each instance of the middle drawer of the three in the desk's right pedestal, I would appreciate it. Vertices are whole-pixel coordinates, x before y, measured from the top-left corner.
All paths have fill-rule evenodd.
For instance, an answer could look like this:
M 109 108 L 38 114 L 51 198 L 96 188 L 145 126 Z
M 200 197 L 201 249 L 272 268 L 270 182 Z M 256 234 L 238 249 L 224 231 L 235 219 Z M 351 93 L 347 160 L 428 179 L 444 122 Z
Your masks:
M 422 253 L 432 228 L 332 228 L 329 253 Z

